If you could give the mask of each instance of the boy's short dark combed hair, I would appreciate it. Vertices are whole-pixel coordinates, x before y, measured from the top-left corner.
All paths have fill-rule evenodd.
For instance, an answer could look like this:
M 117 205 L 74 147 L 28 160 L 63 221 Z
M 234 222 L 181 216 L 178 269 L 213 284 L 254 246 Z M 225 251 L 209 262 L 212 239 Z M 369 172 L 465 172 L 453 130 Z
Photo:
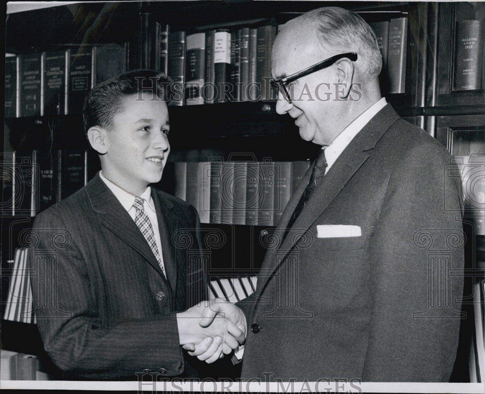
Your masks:
M 170 100 L 171 81 L 153 70 L 135 70 L 113 76 L 97 84 L 86 96 L 82 108 L 84 133 L 93 126 L 113 127 L 114 115 L 120 113 L 122 100 L 133 94 L 151 93 L 152 99 Z M 140 97 L 141 98 L 141 97 Z

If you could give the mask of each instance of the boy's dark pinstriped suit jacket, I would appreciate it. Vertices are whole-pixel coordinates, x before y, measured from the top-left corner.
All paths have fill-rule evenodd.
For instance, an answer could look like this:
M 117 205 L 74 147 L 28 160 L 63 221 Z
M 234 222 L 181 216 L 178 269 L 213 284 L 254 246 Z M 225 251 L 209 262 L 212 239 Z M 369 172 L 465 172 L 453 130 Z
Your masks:
M 168 280 L 98 175 L 41 212 L 29 255 L 44 347 L 63 371 L 118 379 L 184 371 L 174 312 L 206 296 L 194 207 L 152 187 Z

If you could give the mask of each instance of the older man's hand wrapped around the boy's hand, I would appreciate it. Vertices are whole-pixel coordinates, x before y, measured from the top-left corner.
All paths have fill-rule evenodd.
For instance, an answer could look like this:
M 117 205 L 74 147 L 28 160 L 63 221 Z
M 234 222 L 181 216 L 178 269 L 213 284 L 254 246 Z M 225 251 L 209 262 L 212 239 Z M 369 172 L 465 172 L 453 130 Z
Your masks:
M 236 327 L 238 327 L 244 338 L 246 336 L 246 317 L 236 305 L 229 303 L 223 299 L 216 298 L 210 302 L 210 304 L 203 310 L 199 325 L 201 327 L 211 327 L 213 324 L 217 323 L 217 320 L 228 319 Z M 223 357 L 224 354 L 229 354 L 232 349 L 236 349 L 224 342 L 221 344 L 218 337 L 214 337 L 213 340 L 205 338 L 201 342 L 194 344 L 189 343 L 183 346 L 184 349 L 189 351 L 192 356 L 197 356 L 199 360 L 205 360 L 206 363 L 212 363 L 219 358 Z M 243 341 L 238 339 L 238 346 L 242 344 Z M 222 352 L 221 352 L 222 349 Z

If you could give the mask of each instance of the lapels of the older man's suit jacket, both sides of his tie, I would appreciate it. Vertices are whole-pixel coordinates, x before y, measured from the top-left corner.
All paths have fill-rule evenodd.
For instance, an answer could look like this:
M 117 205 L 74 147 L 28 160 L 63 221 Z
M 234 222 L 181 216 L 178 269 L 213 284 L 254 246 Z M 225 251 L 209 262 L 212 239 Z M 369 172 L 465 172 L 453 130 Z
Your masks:
M 280 252 L 279 257 L 281 257 L 281 252 L 286 251 L 286 253 L 289 253 L 295 246 L 297 246 L 303 234 L 305 234 L 318 217 L 322 215 L 335 197 L 339 195 L 340 191 L 354 176 L 357 170 L 370 157 L 372 149 L 375 147 L 379 139 L 388 130 L 390 125 L 398 119 L 400 119 L 399 115 L 389 104 L 387 104 L 362 128 L 322 178 L 322 182 L 315 188 L 307 205 L 283 239 L 291 215 L 310 180 L 313 164 L 310 166 L 303 177 L 302 182 L 298 185 L 296 192 L 291 196 L 290 201 L 283 212 L 279 226 L 275 229 L 275 235 L 279 240 L 282 240 L 277 247 L 277 250 Z M 281 262 L 275 266 L 274 259 L 275 256 L 272 256 L 269 253 L 266 254 L 261 265 L 261 271 L 264 272 L 264 270 L 266 270 L 268 273 L 271 267 L 274 267 L 272 270 L 274 274 L 280 265 L 286 261 L 285 258 L 282 258 L 280 260 Z M 258 288 L 260 289 L 259 292 L 266 286 L 271 276 L 272 275 L 264 275 L 263 277 L 260 277 L 262 280 L 259 281 L 261 283 L 258 283 Z

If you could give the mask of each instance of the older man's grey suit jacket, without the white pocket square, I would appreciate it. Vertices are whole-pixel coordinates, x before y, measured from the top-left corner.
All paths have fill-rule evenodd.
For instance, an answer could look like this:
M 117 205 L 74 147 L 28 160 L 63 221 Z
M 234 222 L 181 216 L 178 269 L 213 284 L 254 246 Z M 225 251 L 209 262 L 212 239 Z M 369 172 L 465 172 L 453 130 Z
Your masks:
M 387 105 L 285 237 L 310 173 L 267 239 L 256 293 L 240 304 L 242 378 L 448 381 L 464 263 L 450 155 Z M 319 238 L 319 225 L 358 226 L 361 236 Z

